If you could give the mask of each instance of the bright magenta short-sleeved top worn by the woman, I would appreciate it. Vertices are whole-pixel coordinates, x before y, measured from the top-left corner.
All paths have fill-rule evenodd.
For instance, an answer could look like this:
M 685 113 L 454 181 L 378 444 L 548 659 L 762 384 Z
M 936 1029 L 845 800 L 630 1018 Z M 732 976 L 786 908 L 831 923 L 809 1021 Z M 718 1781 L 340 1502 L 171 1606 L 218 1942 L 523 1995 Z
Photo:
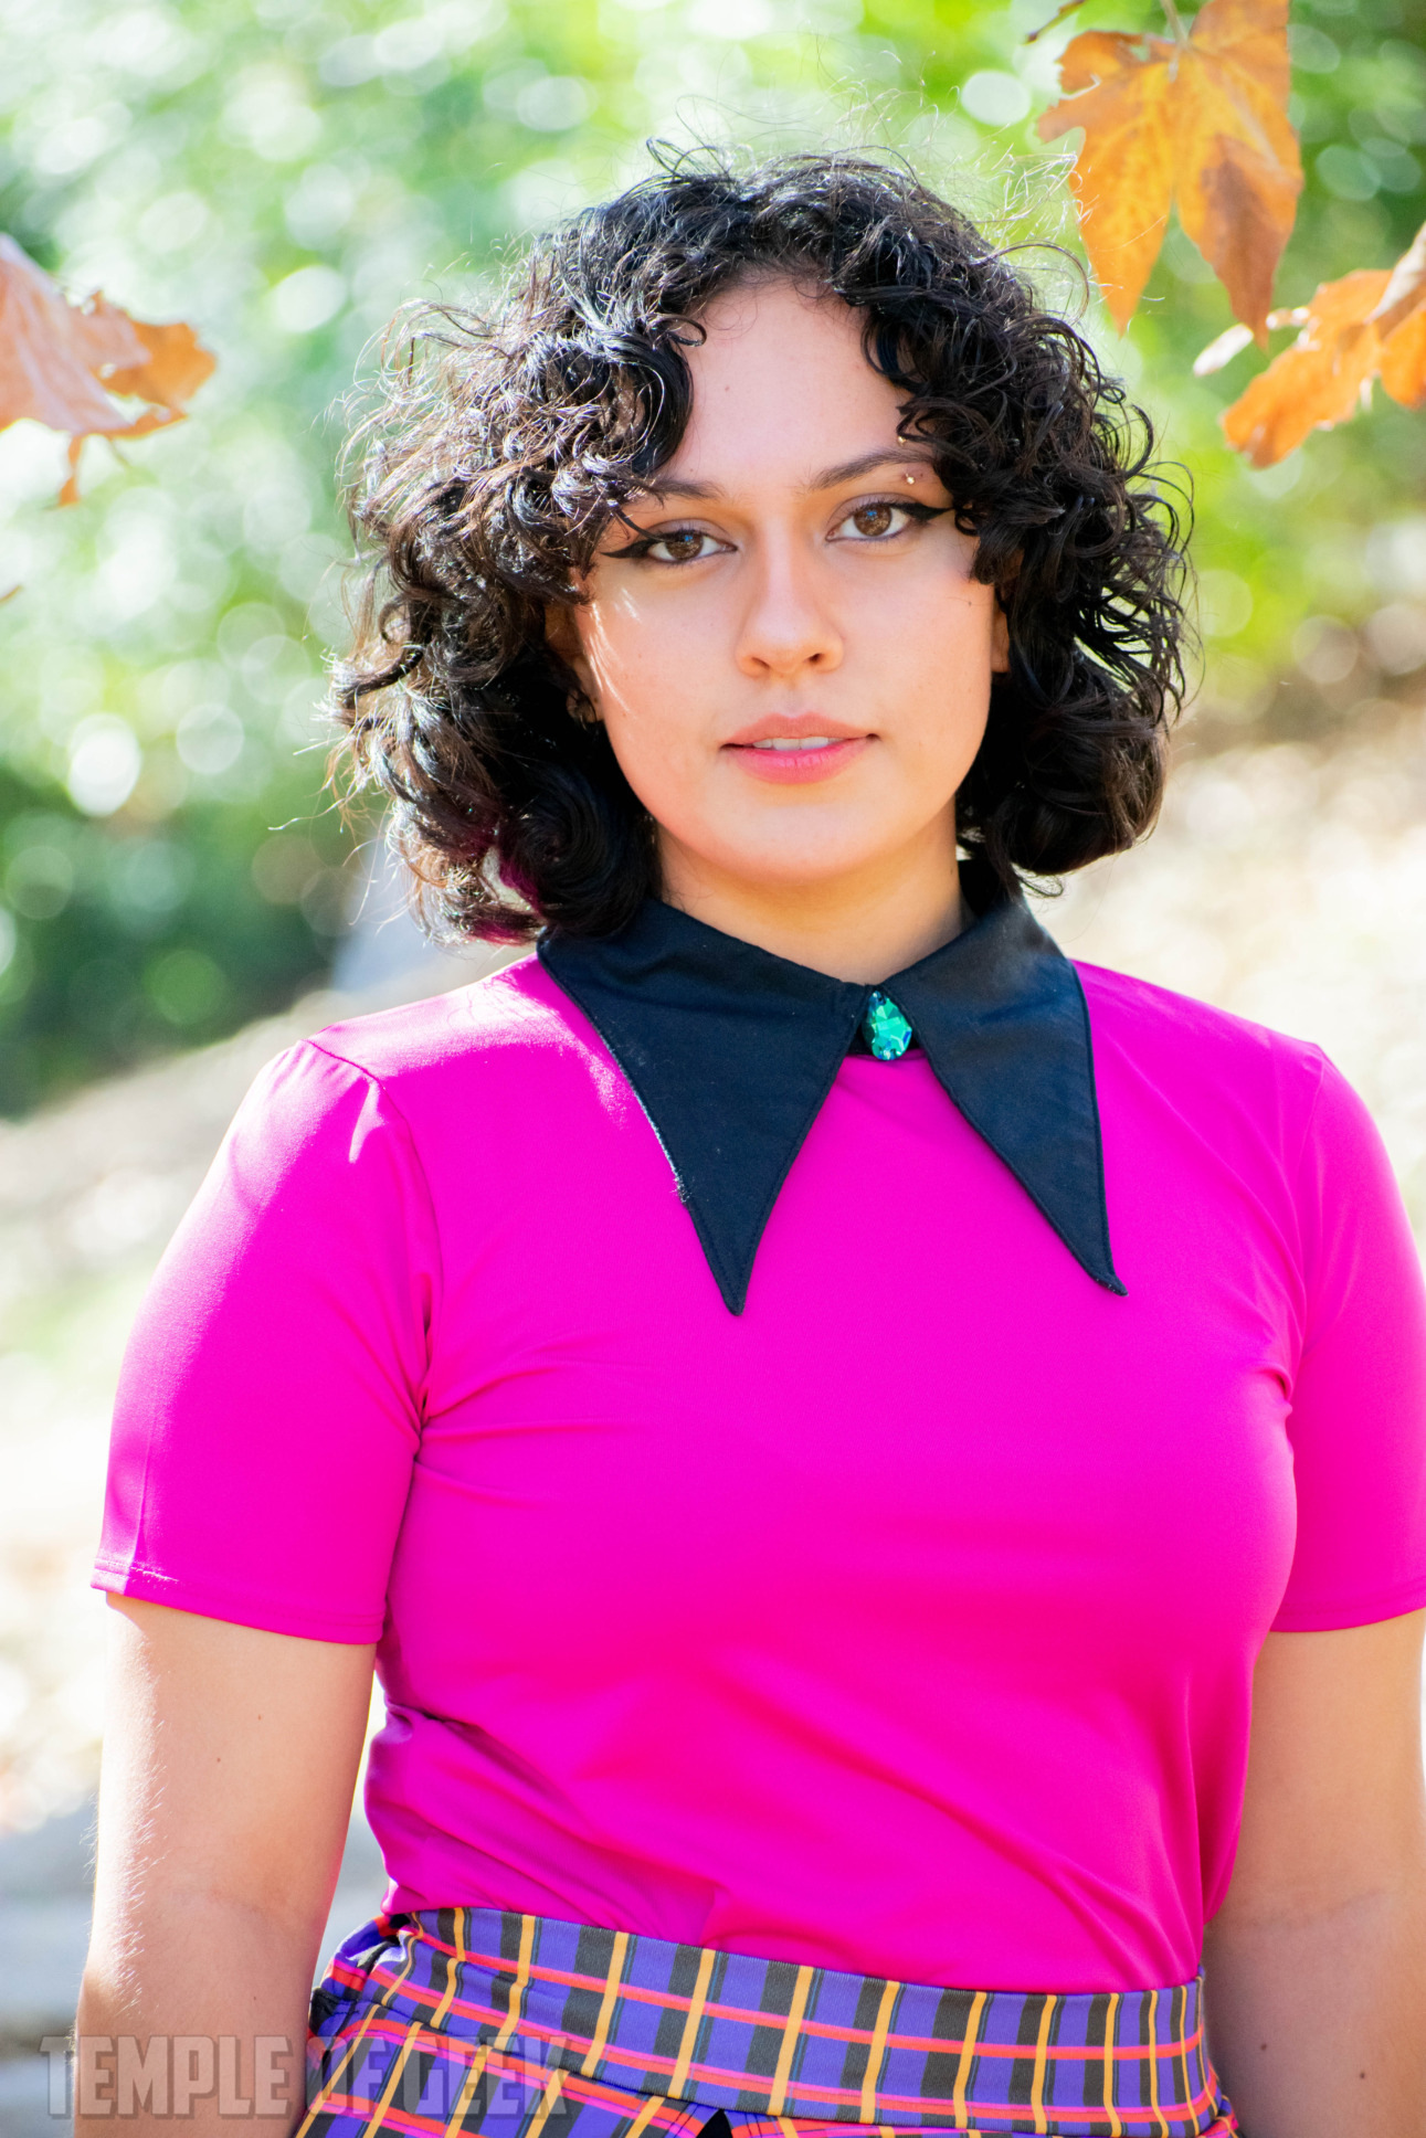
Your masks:
M 1127 1296 L 851 1056 L 729 1313 L 534 960 L 257 1082 L 98 1584 L 378 1642 L 393 1907 L 977 1988 L 1199 1967 L 1270 1627 L 1426 1604 L 1426 1313 L 1313 1048 L 1082 971 Z

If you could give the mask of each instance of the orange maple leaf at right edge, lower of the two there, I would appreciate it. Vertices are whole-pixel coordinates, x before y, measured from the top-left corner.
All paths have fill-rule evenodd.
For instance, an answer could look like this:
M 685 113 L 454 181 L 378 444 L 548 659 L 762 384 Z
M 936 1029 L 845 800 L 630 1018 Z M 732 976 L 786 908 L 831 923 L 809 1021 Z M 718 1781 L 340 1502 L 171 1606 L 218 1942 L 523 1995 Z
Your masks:
M 1323 282 L 1311 304 L 1274 314 L 1274 323 L 1278 319 L 1300 327 L 1298 340 L 1221 417 L 1227 443 L 1255 468 L 1283 460 L 1311 430 L 1345 423 L 1364 404 L 1373 378 L 1405 408 L 1420 408 L 1426 402 L 1426 224 L 1396 267 L 1358 267 Z M 1204 351 L 1199 363 L 1208 355 Z

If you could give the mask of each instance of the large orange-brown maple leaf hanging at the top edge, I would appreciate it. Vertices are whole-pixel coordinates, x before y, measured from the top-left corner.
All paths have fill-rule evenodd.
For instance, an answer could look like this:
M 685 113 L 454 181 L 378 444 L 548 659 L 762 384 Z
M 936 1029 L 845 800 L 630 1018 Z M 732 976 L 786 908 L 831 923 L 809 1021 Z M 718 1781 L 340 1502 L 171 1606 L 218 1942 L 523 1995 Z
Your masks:
M 1287 86 L 1287 0 L 1208 0 L 1187 36 L 1086 30 L 1065 47 L 1069 94 L 1041 113 L 1039 135 L 1084 128 L 1071 184 L 1120 334 L 1176 203 L 1234 316 L 1266 344 L 1272 276 L 1302 192 Z

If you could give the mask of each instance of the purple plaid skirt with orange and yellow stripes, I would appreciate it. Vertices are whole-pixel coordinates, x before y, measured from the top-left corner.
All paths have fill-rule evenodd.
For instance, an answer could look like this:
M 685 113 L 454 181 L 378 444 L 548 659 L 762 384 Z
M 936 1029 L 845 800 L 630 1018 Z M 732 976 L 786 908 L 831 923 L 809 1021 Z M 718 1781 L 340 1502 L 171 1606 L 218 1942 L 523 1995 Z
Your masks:
M 1202 1978 L 945 1990 L 477 1907 L 378 1916 L 340 1946 L 308 2102 L 299 2138 L 1238 2132 Z

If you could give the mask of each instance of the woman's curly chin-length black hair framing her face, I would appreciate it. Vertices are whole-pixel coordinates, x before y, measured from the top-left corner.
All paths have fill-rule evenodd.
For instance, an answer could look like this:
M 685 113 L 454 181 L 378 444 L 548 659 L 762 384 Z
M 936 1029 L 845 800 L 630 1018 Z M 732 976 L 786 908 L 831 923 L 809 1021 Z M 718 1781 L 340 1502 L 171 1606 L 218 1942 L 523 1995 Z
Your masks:
M 620 928 L 654 830 L 545 637 L 676 451 L 714 295 L 787 276 L 864 314 L 1009 622 L 958 834 L 1005 885 L 1133 845 L 1184 688 L 1184 515 L 1152 428 L 1001 250 L 894 162 L 701 152 L 541 239 L 492 316 L 428 308 L 357 432 L 368 579 L 338 761 L 447 936 Z

